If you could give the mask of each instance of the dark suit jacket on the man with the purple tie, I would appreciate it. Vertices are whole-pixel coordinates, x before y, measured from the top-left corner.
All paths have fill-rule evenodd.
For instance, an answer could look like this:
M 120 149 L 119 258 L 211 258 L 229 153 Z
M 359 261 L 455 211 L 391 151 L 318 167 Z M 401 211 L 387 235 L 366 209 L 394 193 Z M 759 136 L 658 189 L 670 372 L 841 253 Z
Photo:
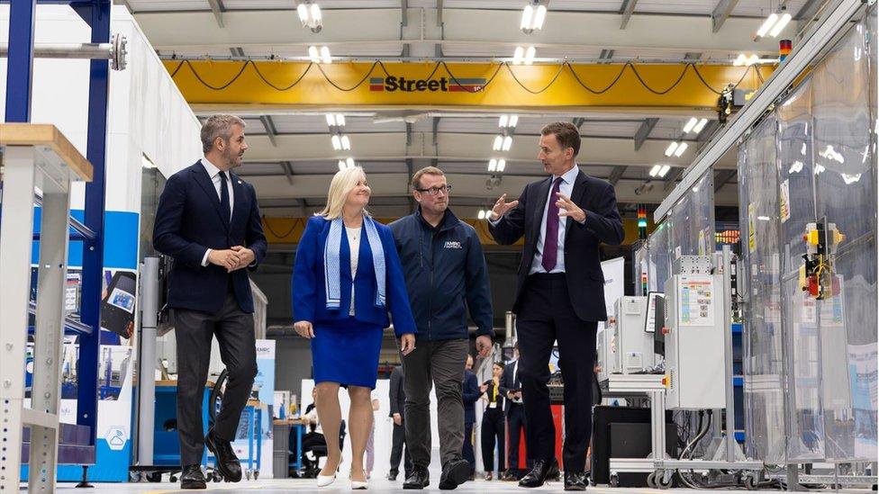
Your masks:
M 519 204 L 496 223 L 489 223 L 489 231 L 501 245 L 510 245 L 525 236 L 516 301 L 512 304 L 512 311 L 517 314 L 521 308 L 525 280 L 537 251 L 540 222 L 547 207 L 551 182 L 552 177 L 548 176 L 526 185 L 519 196 Z M 580 319 L 607 320 L 604 275 L 598 246 L 602 242 L 614 246 L 622 243 L 624 234 L 616 194 L 611 184 L 586 175 L 581 170 L 574 182 L 571 201 L 586 213 L 583 223 L 568 218 L 565 229 L 565 277 L 571 305 Z

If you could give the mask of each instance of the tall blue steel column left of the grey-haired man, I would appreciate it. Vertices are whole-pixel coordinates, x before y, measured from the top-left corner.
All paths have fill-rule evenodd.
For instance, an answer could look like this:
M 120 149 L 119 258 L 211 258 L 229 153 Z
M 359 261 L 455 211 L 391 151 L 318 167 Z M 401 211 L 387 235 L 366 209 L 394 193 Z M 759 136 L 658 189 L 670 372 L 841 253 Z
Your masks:
M 110 41 L 110 2 L 74 4 L 92 28 L 92 42 Z M 101 342 L 101 293 L 104 278 L 104 177 L 107 150 L 107 100 L 109 64 L 92 60 L 88 85 L 88 143 L 86 158 L 94 166 L 94 178 L 86 184 L 86 227 L 95 232 L 83 251 L 81 319 L 94 328 L 79 337 L 77 424 L 91 427 L 92 445 L 97 428 L 98 364 Z

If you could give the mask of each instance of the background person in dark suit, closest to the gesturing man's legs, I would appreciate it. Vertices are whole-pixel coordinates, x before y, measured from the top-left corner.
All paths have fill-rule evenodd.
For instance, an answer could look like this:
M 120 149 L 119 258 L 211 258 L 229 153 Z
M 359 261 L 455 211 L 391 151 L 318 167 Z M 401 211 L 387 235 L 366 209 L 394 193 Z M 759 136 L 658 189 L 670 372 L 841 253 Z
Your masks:
M 500 391 L 506 399 L 503 405 L 503 417 L 507 422 L 507 434 L 510 436 L 510 447 L 507 452 L 507 471 L 503 472 L 502 481 L 518 481 L 521 478 L 519 468 L 519 442 L 525 436 L 525 464 L 530 465 L 528 444 L 528 425 L 525 421 L 525 408 L 522 405 L 521 380 L 519 378 L 519 343 L 512 349 L 513 360 L 503 367 Z

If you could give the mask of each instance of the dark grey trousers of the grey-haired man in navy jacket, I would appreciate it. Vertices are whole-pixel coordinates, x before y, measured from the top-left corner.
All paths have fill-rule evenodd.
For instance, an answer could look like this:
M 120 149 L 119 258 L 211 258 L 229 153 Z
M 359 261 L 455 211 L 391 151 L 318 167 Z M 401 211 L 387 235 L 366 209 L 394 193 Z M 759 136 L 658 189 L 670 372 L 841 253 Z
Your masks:
M 200 310 L 174 310 L 177 338 L 177 433 L 180 463 L 202 463 L 204 423 L 202 400 L 211 363 L 211 341 L 217 337 L 222 363 L 228 371 L 222 409 L 213 425 L 214 434 L 225 441 L 235 438 L 241 410 L 247 405 L 253 379 L 257 376 L 257 349 L 253 315 L 238 306 L 235 296 L 226 295 L 216 314 Z

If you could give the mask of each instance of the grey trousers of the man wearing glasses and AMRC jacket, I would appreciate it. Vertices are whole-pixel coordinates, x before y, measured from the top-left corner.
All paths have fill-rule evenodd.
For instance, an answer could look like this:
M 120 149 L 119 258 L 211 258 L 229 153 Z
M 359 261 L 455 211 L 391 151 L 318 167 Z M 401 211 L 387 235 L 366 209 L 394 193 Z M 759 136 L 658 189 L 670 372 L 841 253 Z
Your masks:
M 467 361 L 469 341 L 417 339 L 415 350 L 403 356 L 406 380 L 406 448 L 412 464 L 430 464 L 430 387 L 436 388 L 439 427 L 439 454 L 442 463 L 460 458 L 464 446 L 464 401 L 461 382 Z

